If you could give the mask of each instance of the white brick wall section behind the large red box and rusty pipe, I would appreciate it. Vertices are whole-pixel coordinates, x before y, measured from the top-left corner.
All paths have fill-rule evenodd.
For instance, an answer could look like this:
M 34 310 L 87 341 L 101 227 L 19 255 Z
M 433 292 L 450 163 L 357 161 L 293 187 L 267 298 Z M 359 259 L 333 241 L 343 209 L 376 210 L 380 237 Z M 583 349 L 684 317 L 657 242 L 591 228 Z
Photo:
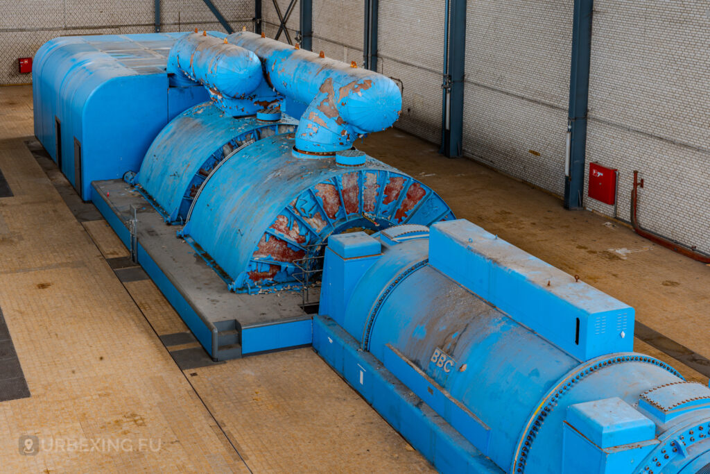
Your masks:
M 596 0 L 586 153 L 588 163 L 619 169 L 619 217 L 630 219 L 638 170 L 645 180 L 640 224 L 704 252 L 710 252 L 709 38 L 706 0 Z M 613 214 L 591 198 L 585 205 Z

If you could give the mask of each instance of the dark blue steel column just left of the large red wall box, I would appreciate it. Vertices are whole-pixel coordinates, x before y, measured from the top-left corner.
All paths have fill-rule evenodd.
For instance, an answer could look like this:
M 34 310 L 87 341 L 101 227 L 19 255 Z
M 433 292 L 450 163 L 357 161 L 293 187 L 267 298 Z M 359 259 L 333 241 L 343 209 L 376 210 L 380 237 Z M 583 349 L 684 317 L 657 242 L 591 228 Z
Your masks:
M 591 16 L 594 0 L 574 0 L 572 68 L 569 75 L 569 122 L 564 163 L 564 208 L 580 209 L 584 194 L 586 114 L 589 104 Z

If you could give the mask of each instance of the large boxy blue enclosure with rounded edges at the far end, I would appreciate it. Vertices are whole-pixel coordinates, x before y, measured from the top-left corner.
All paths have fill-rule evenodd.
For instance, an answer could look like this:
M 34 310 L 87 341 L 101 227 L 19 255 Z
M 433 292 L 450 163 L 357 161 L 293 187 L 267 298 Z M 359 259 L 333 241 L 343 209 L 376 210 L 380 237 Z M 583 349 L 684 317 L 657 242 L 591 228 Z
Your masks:
M 182 34 L 55 38 L 35 54 L 35 136 L 84 200 L 92 181 L 137 169 L 158 131 L 207 99 L 202 87 L 168 87 Z

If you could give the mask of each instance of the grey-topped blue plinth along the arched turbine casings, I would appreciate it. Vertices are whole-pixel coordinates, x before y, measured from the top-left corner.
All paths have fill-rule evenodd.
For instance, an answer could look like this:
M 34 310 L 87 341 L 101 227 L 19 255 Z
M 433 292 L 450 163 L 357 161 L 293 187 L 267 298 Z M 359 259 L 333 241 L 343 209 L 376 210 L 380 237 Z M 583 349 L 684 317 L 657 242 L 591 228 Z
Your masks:
M 131 207 L 136 211 L 136 255 L 182 321 L 214 360 L 228 360 L 311 343 L 311 316 L 300 291 L 231 293 L 224 281 L 175 238 L 140 193 L 119 179 L 92 183 L 92 201 L 126 248 Z

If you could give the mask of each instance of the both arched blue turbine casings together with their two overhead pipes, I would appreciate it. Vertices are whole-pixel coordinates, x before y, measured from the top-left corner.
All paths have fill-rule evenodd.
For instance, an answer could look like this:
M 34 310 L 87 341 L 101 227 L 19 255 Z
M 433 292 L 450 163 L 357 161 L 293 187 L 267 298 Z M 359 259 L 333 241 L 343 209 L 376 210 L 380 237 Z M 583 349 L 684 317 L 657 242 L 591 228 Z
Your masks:
M 235 41 L 256 50 L 230 44 Z M 260 64 L 254 53 L 270 80 L 249 92 Z M 179 235 L 229 289 L 273 291 L 312 282 L 320 271 L 322 242 L 333 233 L 453 217 L 430 188 L 350 149 L 357 134 L 384 129 L 398 117 L 400 92 L 387 77 L 249 33 L 221 43 L 207 35 L 185 36 L 171 50 L 168 68 L 200 80 L 213 103 L 170 122 L 138 175 L 126 178 L 166 221 L 185 222 Z M 297 87 L 288 87 L 289 74 Z M 269 85 L 284 97 L 270 89 L 269 96 L 263 91 Z M 317 111 L 307 109 L 297 126 L 276 107 L 235 117 L 282 99 L 312 101 L 309 107 Z M 246 105 L 236 110 L 235 103 Z M 318 114 L 337 132 L 324 141 L 312 126 Z M 297 150 L 303 140 L 315 148 Z

